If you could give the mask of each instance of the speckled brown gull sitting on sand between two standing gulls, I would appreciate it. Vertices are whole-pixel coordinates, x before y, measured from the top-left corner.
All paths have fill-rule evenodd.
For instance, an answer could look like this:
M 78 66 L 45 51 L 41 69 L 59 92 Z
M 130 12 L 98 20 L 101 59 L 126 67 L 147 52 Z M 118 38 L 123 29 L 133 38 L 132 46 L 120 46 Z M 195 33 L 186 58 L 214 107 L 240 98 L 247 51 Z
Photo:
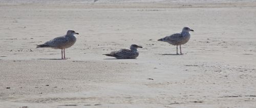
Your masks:
M 106 56 L 116 57 L 117 59 L 134 59 L 139 56 L 137 48 L 142 48 L 138 45 L 131 45 L 129 49 L 121 49 L 119 51 L 112 51 L 110 54 L 103 54 Z

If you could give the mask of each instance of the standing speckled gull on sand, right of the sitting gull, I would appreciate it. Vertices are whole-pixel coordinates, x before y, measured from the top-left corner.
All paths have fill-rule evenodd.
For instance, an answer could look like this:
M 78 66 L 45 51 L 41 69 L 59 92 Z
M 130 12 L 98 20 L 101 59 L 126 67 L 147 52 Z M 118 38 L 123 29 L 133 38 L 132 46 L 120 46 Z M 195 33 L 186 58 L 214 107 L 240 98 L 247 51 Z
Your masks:
M 189 31 L 194 31 L 189 27 L 184 27 L 181 33 L 175 33 L 170 36 L 166 36 L 164 38 L 158 39 L 158 41 L 165 41 L 171 45 L 177 46 L 177 54 L 178 54 L 178 45 L 180 45 L 180 54 L 181 53 L 181 45 L 186 44 L 186 42 L 190 38 Z

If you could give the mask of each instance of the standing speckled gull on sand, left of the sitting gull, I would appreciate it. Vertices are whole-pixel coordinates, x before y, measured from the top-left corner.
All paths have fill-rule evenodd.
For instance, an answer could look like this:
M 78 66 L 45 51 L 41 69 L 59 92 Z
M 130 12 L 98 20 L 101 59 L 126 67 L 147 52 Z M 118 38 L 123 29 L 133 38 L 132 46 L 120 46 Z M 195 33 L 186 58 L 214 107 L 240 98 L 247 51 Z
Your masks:
M 36 48 L 53 48 L 61 49 L 61 59 L 66 59 L 65 49 L 70 48 L 76 42 L 76 33 L 74 30 L 68 30 L 67 34 L 64 36 L 56 37 L 50 41 L 45 42 L 45 44 L 38 45 Z M 64 57 L 63 57 L 64 52 Z

